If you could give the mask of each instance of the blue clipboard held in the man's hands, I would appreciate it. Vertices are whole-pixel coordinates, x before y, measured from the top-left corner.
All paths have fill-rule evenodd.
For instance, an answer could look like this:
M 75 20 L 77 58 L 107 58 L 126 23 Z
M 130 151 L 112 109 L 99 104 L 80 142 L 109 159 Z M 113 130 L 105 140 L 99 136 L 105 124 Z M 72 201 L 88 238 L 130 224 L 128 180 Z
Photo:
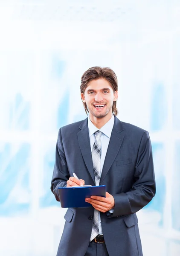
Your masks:
M 58 188 L 59 198 L 62 208 L 68 207 L 90 207 L 91 204 L 85 202 L 85 198 L 91 195 L 106 197 L 106 186 L 77 186 Z

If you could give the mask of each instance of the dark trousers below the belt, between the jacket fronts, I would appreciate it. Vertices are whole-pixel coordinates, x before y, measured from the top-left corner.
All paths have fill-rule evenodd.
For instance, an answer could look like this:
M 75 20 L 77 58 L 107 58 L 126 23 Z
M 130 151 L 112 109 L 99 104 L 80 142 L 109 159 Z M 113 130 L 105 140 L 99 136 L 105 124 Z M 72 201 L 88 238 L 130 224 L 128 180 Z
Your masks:
M 107 253 L 105 243 L 96 243 L 94 241 L 89 243 L 87 252 L 84 256 L 109 256 Z

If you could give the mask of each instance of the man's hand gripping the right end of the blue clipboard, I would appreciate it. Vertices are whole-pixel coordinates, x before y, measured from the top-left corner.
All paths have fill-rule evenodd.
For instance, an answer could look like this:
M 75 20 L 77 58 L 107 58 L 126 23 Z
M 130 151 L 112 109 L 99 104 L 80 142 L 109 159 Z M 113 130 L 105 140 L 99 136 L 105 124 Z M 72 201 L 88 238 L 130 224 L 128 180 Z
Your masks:
M 92 206 L 100 212 L 107 212 L 110 209 L 113 209 L 115 204 L 113 196 L 108 192 L 106 192 L 105 198 L 93 195 L 90 198 L 86 198 L 85 201 L 92 204 Z

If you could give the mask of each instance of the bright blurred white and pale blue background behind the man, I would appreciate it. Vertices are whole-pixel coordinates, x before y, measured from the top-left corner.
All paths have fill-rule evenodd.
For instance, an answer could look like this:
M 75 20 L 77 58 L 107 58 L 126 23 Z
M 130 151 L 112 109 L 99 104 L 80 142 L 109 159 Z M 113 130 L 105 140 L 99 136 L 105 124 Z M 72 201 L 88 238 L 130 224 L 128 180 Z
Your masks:
M 144 256 L 180 255 L 180 1 L 0 1 L 0 255 L 55 256 L 58 129 L 86 117 L 81 75 L 111 67 L 118 118 L 149 131 L 157 194 Z

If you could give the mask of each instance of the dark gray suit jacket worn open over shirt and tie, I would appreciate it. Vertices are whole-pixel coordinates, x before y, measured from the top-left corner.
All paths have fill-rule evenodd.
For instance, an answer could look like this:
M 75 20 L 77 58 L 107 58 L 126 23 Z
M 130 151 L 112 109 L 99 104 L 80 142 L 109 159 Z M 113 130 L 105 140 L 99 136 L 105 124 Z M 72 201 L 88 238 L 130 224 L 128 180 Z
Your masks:
M 73 172 L 95 186 L 87 119 L 59 130 L 51 190 L 67 186 Z M 115 117 L 99 185 L 113 195 L 113 215 L 101 212 L 109 256 L 142 256 L 136 212 L 155 195 L 152 148 L 147 131 Z M 68 208 L 57 256 L 84 256 L 90 242 L 93 207 Z

